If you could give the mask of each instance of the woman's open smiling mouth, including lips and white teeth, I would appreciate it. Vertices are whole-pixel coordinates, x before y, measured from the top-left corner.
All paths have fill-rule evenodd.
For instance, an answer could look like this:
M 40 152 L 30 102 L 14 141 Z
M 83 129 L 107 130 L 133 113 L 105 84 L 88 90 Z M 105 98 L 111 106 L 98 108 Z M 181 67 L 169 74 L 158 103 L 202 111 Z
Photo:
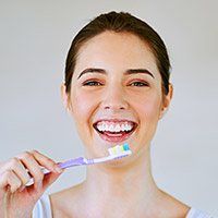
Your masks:
M 137 123 L 132 121 L 104 120 L 93 124 L 99 136 L 110 143 L 121 143 L 128 140 L 137 128 Z

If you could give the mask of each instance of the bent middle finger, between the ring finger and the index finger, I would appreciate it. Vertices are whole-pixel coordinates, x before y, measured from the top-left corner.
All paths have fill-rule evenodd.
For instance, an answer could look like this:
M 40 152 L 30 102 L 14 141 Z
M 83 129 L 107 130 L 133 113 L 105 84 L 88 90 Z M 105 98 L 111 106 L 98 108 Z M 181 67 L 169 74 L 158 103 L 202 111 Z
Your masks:
M 25 152 L 16 157 L 27 168 L 28 173 L 31 173 L 31 175 L 34 179 L 34 184 L 36 186 L 40 184 L 44 179 L 44 173 L 41 171 L 39 164 L 34 158 L 34 156 L 31 153 Z

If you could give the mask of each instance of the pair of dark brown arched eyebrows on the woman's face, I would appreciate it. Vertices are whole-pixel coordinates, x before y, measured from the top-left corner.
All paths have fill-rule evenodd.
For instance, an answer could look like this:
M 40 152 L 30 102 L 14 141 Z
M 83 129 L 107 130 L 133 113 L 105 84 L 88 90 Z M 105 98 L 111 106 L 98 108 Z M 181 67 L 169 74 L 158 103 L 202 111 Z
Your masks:
M 88 68 L 88 69 L 85 69 L 83 70 L 77 80 L 86 74 L 86 73 L 100 73 L 100 74 L 108 74 L 104 69 L 97 69 L 97 68 Z M 137 73 L 143 73 L 143 74 L 148 74 L 150 75 L 153 78 L 155 78 L 155 76 L 147 70 L 147 69 L 128 69 L 125 72 L 124 72 L 124 75 L 131 75 L 131 74 L 137 74 Z

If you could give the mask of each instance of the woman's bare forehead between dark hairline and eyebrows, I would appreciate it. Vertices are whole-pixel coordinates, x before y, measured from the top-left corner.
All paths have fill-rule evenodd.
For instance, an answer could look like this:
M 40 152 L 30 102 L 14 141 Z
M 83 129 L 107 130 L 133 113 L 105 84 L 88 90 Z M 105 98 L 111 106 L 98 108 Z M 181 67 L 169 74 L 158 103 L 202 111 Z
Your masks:
M 146 41 L 131 33 L 114 32 L 104 32 L 80 48 L 75 71 L 90 66 L 158 71 L 155 56 Z

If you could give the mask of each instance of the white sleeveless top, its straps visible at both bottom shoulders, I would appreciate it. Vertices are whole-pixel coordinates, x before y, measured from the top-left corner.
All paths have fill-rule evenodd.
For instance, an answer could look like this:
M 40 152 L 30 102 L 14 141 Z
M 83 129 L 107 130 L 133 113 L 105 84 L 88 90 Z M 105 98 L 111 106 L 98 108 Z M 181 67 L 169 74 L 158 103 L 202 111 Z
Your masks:
M 49 195 L 43 195 L 33 210 L 33 218 L 52 218 Z M 198 209 L 192 207 L 185 218 L 213 218 Z M 214 217 L 215 218 L 215 217 Z

